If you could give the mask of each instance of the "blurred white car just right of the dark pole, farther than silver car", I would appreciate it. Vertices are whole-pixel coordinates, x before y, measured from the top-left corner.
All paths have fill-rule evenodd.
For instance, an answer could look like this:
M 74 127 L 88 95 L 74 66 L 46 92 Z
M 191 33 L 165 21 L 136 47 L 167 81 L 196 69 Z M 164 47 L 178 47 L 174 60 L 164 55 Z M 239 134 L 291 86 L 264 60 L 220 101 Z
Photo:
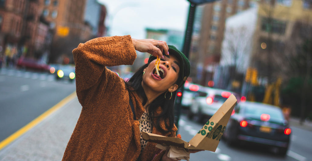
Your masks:
M 181 102 L 182 108 L 189 110 L 195 96 L 197 96 L 199 92 L 204 92 L 203 88 L 204 87 L 201 85 L 185 82 Z

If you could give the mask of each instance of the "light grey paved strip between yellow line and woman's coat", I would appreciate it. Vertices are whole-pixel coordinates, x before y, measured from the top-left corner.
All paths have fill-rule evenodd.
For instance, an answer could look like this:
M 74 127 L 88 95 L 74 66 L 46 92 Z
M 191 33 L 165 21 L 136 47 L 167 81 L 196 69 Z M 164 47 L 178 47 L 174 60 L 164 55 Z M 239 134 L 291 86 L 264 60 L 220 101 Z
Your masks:
M 0 161 L 60 161 L 81 112 L 77 97 L 0 151 Z

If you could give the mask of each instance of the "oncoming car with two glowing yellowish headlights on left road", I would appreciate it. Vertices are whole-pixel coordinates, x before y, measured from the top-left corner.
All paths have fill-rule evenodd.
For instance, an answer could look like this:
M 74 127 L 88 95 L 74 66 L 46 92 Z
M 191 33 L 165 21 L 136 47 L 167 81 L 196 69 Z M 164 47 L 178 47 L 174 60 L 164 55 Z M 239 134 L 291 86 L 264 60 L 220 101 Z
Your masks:
M 58 70 L 55 72 L 56 80 L 69 80 L 74 82 L 76 78 L 75 66 L 59 66 Z

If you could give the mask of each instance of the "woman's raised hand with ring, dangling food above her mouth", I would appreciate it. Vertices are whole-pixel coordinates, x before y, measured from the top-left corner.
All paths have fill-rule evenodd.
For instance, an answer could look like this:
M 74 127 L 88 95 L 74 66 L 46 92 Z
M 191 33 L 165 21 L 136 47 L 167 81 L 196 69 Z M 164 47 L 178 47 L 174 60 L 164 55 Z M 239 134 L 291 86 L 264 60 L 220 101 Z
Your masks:
M 169 47 L 166 41 L 158 41 L 154 39 L 132 39 L 135 50 L 140 52 L 148 52 L 151 55 L 163 58 L 163 50 L 169 55 Z M 159 47 L 156 47 L 159 45 Z

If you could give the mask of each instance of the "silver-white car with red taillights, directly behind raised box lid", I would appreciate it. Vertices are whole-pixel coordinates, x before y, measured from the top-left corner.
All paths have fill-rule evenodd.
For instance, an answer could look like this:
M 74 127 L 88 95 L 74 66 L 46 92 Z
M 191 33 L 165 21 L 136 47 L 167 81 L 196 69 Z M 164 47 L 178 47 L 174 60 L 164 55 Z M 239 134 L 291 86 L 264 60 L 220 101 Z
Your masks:
M 210 119 L 231 94 L 235 95 L 236 98 L 240 98 L 237 93 L 232 91 L 204 87 L 193 99 L 188 118 L 192 119 L 193 116 L 197 115 L 198 122 Z

